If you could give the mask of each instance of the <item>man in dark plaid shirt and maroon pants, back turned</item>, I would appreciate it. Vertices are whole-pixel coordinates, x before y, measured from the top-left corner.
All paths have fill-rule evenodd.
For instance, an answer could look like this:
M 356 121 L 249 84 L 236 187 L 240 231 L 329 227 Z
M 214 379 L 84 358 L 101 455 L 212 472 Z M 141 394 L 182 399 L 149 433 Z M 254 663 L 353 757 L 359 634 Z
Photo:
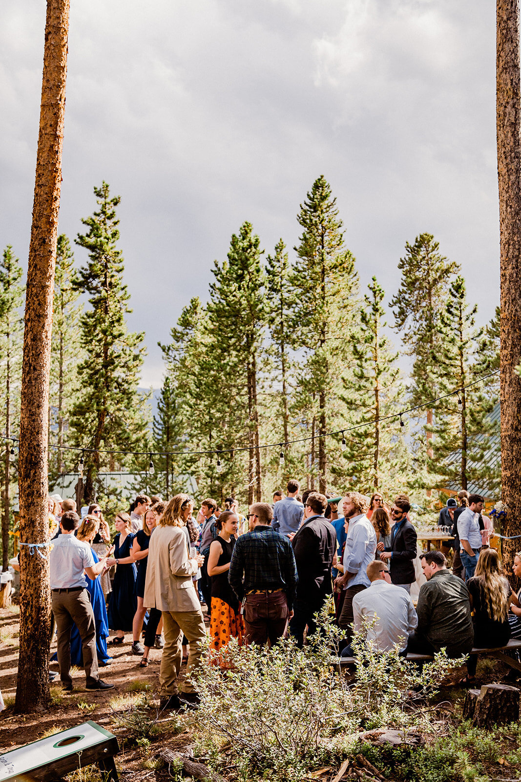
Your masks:
M 271 529 L 273 509 L 266 502 L 251 506 L 251 531 L 237 538 L 228 580 L 244 607 L 250 644 L 277 643 L 293 616 L 298 582 L 293 548 Z M 244 579 L 243 579 L 244 577 Z

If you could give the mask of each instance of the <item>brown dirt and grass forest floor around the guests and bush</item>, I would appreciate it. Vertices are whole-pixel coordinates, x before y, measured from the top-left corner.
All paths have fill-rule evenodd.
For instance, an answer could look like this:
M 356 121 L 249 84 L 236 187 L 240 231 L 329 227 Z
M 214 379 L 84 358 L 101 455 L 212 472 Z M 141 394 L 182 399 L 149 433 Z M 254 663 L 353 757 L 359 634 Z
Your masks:
M 162 714 L 153 706 L 154 703 L 159 703 L 161 657 L 159 649 L 151 651 L 150 665 L 148 668 L 141 669 L 139 667 L 141 658 L 131 653 L 131 637 L 128 633 L 123 647 L 109 647 L 112 650 L 113 662 L 100 669 L 101 678 L 113 683 L 114 690 L 99 694 L 87 691 L 84 686 L 83 670 L 73 669 L 72 693 L 63 693 L 58 679 L 51 685 L 52 702 L 47 711 L 32 715 L 18 715 L 13 709 L 18 647 L 19 613 L 18 607 L 12 605 L 10 608 L 0 609 L 0 689 L 6 705 L 5 711 L 0 713 L 0 754 L 92 720 L 118 738 L 120 753 L 116 755 L 116 767 L 121 780 L 188 782 L 192 779 L 183 769 L 169 766 L 159 759 L 159 752 L 165 748 L 171 752 L 184 753 L 190 752 L 191 746 L 194 745 L 196 757 L 198 749 L 194 736 L 193 712 Z M 55 651 L 55 640 L 51 651 Z M 58 664 L 51 662 L 50 669 L 57 671 Z M 430 780 L 436 782 L 521 780 L 521 728 L 516 730 L 516 735 L 512 731 L 510 735 L 509 730 L 505 729 L 487 730 L 480 734 L 476 730 L 474 732 L 472 729 L 469 730 L 469 723 L 461 723 L 465 691 L 458 686 L 458 681 L 464 673 L 463 667 L 455 669 L 451 674 L 451 683 L 441 688 L 437 698 L 440 706 L 438 737 L 446 737 L 446 744 L 442 744 L 440 748 L 438 741 L 432 758 L 432 776 L 426 771 L 425 775 L 422 773 L 418 777 L 413 774 L 411 777 L 410 765 L 407 769 L 404 766 L 402 775 L 401 771 L 398 773 L 399 764 L 396 766 L 391 762 L 389 765 L 387 759 L 385 765 L 381 766 L 379 777 L 376 775 L 364 777 L 362 765 L 358 770 L 353 767 L 353 776 L 351 777 L 348 771 L 343 779 L 397 780 L 397 782 L 409 779 L 415 782 L 416 780 L 426 780 L 426 782 Z M 483 683 L 500 681 L 505 673 L 507 669 L 501 663 L 486 659 L 478 665 L 476 687 L 480 687 Z M 147 698 L 145 712 L 148 714 L 145 718 L 144 710 L 138 708 L 139 699 L 144 697 Z M 154 723 L 154 726 L 149 730 L 151 723 Z M 360 758 L 361 755 L 358 757 Z M 366 757 L 372 759 L 373 763 L 377 762 L 376 755 L 371 755 L 370 752 Z M 452 773 L 451 764 L 458 765 L 460 761 L 461 768 L 457 773 L 455 771 Z M 429 769 L 431 760 L 427 758 L 426 762 L 426 769 Z M 309 782 L 312 780 L 331 782 L 337 777 L 340 765 L 341 761 L 332 762 L 330 768 L 312 771 L 303 779 Z M 88 771 L 82 769 L 80 772 L 70 774 L 67 779 L 70 782 L 101 782 L 101 776 L 95 766 L 91 766 L 90 769 Z M 447 777 L 441 773 L 441 769 L 448 772 Z M 230 777 L 227 778 L 237 780 L 239 777 L 230 769 Z M 240 778 L 253 779 L 250 776 Z

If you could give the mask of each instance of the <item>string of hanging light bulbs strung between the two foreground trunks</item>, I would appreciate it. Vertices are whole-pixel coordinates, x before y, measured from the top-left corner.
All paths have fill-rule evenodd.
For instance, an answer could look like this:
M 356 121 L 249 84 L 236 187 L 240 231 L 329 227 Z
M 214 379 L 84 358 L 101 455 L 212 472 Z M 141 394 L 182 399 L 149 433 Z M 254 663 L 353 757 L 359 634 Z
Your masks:
M 362 429 L 363 427 L 374 425 L 377 422 L 380 421 L 392 421 L 396 418 L 399 418 L 400 421 L 400 429 L 402 427 L 405 427 L 405 421 L 403 420 L 403 416 L 407 414 L 411 414 L 416 412 L 417 410 L 422 410 L 424 407 L 434 407 L 437 402 L 441 402 L 444 399 L 448 399 L 451 396 L 457 396 L 458 397 L 458 405 L 459 407 L 462 407 L 462 398 L 460 394 L 465 391 L 466 389 L 472 388 L 473 386 L 477 386 L 479 383 L 484 382 L 488 378 L 494 377 L 494 375 L 498 375 L 499 370 L 495 370 L 494 372 L 491 372 L 489 375 L 484 375 L 484 377 L 479 378 L 478 380 L 474 380 L 471 383 L 468 383 L 466 386 L 459 386 L 459 388 L 454 389 L 453 391 L 449 391 L 446 394 L 443 394 L 442 396 L 437 396 L 436 399 L 430 399 L 426 402 L 422 402 L 422 404 L 417 404 L 415 407 L 408 407 L 405 410 L 402 410 L 400 413 L 393 413 L 391 415 L 384 415 L 380 416 L 379 418 L 373 418 L 370 421 L 363 421 L 361 424 L 355 424 L 354 426 L 350 426 L 348 429 L 337 429 L 334 432 L 322 432 L 318 433 L 314 436 L 309 435 L 305 437 L 298 437 L 296 439 L 286 440 L 283 443 L 264 443 L 259 446 L 254 446 L 254 449 L 257 448 L 273 448 L 278 447 L 280 448 L 280 455 L 279 455 L 279 464 L 284 465 L 284 447 L 287 447 L 289 445 L 294 445 L 296 443 L 306 443 L 309 442 L 309 440 L 312 439 L 320 439 L 325 437 L 334 437 L 341 435 L 341 450 L 344 451 L 347 448 L 347 443 L 345 440 L 345 433 L 346 432 L 354 432 L 356 429 Z M 12 436 L 5 436 L 0 435 L 0 438 L 4 440 L 11 440 L 12 441 L 12 447 L 9 453 L 9 461 L 14 461 L 16 458 L 15 454 L 15 444 L 20 443 L 20 439 L 17 437 Z M 154 475 L 155 468 L 154 468 L 154 462 L 152 461 L 153 456 L 214 456 L 217 457 L 216 462 L 216 470 L 217 472 L 222 472 L 223 465 L 221 464 L 221 455 L 222 454 L 232 454 L 235 451 L 245 451 L 250 450 L 250 446 L 241 446 L 241 447 L 232 447 L 232 448 L 217 448 L 213 450 L 169 450 L 169 451 L 131 451 L 131 450 L 102 450 L 98 448 L 78 448 L 76 446 L 66 446 L 66 445 L 55 445 L 54 443 L 51 444 L 52 448 L 55 448 L 56 450 L 75 450 L 80 454 L 80 459 L 78 462 L 78 473 L 80 475 L 80 478 L 83 478 L 84 475 L 84 456 L 85 454 L 112 454 L 114 456 L 120 455 L 120 456 L 147 456 L 148 455 L 148 473 L 149 475 Z

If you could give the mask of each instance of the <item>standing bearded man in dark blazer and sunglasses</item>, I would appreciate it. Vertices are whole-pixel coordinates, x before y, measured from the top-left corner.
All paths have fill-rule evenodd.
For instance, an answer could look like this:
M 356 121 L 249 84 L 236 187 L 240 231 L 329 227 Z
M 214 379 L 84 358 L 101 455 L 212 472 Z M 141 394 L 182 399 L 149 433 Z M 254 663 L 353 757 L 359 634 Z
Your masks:
M 391 581 L 397 587 L 411 591 L 411 584 L 416 581 L 413 561 L 416 559 L 416 529 L 407 518 L 411 503 L 406 494 L 398 494 L 391 508 L 394 521 L 391 527 L 391 546 L 380 554 L 380 559 L 389 562 Z

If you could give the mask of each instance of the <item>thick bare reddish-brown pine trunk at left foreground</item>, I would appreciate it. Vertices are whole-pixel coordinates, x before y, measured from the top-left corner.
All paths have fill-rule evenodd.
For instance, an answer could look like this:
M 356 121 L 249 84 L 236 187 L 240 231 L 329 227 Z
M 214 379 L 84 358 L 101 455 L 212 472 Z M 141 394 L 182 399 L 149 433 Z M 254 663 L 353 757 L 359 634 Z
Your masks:
M 20 410 L 20 543 L 48 541 L 48 395 L 52 300 L 62 180 L 69 0 L 48 0 L 33 224 L 27 264 Z M 48 705 L 49 570 L 20 549 L 20 656 L 16 712 Z

